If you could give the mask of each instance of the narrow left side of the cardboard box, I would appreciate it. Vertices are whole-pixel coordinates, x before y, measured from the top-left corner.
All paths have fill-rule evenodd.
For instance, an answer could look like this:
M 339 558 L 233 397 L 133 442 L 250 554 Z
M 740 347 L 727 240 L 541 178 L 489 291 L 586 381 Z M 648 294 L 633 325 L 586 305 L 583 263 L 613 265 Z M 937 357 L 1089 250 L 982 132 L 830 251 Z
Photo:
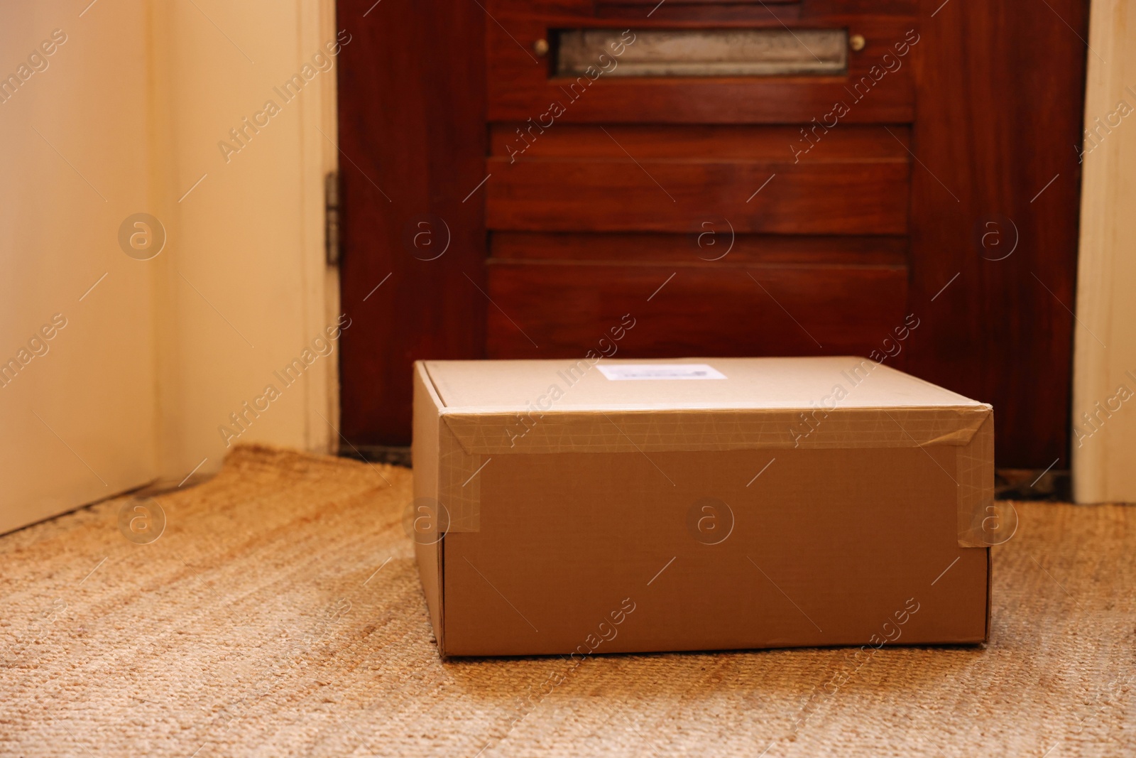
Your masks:
M 434 638 L 438 651 L 445 655 L 442 613 L 442 545 L 436 536 L 436 530 L 419 532 L 415 525 L 419 517 L 427 520 L 433 517 L 436 523 L 438 511 L 432 513 L 432 505 L 438 500 L 438 433 L 442 427 L 442 401 L 426 374 L 421 361 L 415 363 L 414 378 L 414 430 L 411 436 L 411 455 L 415 474 L 415 503 L 411 505 L 409 517 L 410 531 L 415 538 L 415 557 L 418 560 L 418 573 L 421 577 L 423 592 L 429 607 L 431 624 L 434 626 Z M 421 514 L 415 511 L 421 505 Z

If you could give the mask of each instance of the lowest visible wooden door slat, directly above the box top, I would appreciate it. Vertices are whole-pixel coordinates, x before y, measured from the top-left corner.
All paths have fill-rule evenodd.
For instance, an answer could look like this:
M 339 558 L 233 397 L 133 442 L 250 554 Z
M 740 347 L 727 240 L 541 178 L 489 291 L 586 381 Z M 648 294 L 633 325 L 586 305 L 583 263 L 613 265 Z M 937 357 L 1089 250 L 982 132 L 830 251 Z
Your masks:
M 494 260 L 488 270 L 490 358 L 579 358 L 627 314 L 635 326 L 619 357 L 867 356 L 903 325 L 907 303 L 903 266 Z

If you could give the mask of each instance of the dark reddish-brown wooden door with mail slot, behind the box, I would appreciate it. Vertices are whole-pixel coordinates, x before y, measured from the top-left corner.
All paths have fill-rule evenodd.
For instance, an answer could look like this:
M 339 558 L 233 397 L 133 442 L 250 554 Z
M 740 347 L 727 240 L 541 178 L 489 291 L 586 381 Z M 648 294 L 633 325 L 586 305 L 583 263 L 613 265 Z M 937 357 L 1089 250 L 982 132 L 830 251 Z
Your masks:
M 339 15 L 352 444 L 421 358 L 863 355 L 1066 463 L 1084 0 Z

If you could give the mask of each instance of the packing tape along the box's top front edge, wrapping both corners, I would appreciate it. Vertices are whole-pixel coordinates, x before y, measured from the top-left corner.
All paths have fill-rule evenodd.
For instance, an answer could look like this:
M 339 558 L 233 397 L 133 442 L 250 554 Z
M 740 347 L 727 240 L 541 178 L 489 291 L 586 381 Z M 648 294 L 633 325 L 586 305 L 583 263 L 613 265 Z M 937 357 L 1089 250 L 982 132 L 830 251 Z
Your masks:
M 543 415 L 442 411 L 438 499 L 450 532 L 481 528 L 487 458 L 510 453 L 661 452 L 760 449 L 955 447 L 961 547 L 988 547 L 984 519 L 994 497 L 989 406 L 801 410 L 612 410 Z

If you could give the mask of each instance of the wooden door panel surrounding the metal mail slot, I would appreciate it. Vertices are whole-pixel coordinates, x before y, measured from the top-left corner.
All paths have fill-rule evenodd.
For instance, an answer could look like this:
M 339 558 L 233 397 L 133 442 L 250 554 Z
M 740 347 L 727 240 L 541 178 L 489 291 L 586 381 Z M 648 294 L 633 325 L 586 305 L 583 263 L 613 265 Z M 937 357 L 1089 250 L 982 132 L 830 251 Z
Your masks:
M 911 41 L 918 34 L 912 32 L 910 2 L 804 2 L 778 6 L 776 10 L 761 3 L 685 9 L 662 3 L 650 17 L 637 7 L 624 13 L 609 8 L 610 13 L 601 17 L 593 0 L 492 0 L 486 8 L 499 22 L 486 30 L 491 122 L 535 118 L 556 101 L 567 109 L 563 118 L 576 123 L 808 123 L 821 118 L 838 101 L 850 106 L 845 117 L 849 123 L 902 124 L 910 123 L 914 115 L 909 61 Z M 692 10 L 694 18 L 682 17 Z M 866 45 L 850 55 L 846 75 L 645 81 L 601 75 L 593 83 L 551 76 L 554 51 L 546 58 L 533 51 L 537 40 L 548 39 L 553 28 L 786 26 L 847 28 L 850 34 L 862 35 Z M 899 50 L 905 53 L 900 56 Z M 885 55 L 889 56 L 886 60 Z M 880 75 L 884 68 L 889 70 Z

